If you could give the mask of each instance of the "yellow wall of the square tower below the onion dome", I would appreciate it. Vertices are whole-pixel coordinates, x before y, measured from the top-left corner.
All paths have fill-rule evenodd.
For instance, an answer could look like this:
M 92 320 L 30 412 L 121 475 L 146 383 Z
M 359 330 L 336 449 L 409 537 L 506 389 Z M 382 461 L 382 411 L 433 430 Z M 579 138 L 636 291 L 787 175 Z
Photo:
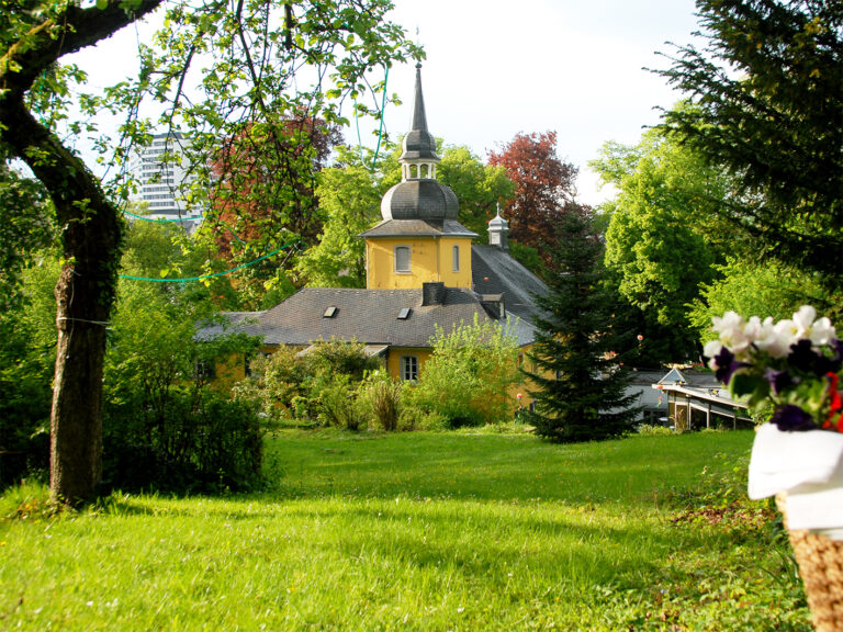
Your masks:
M 409 272 L 395 272 L 394 249 L 409 247 Z M 460 270 L 453 271 L 452 247 L 460 248 Z M 409 290 L 429 281 L 448 287 L 471 287 L 470 237 L 384 237 L 366 241 L 366 286 Z

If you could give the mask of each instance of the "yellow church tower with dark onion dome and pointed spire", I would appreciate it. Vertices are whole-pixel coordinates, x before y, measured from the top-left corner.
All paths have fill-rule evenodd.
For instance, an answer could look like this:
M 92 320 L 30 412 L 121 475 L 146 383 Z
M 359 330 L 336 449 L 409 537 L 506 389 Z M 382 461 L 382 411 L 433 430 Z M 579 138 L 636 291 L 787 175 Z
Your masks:
M 401 182 L 381 201 L 383 219 L 366 238 L 366 286 L 407 290 L 425 283 L 471 287 L 471 240 L 458 222 L 459 202 L 437 182 L 436 138 L 427 131 L 422 65 L 416 66 L 412 128 L 404 137 Z

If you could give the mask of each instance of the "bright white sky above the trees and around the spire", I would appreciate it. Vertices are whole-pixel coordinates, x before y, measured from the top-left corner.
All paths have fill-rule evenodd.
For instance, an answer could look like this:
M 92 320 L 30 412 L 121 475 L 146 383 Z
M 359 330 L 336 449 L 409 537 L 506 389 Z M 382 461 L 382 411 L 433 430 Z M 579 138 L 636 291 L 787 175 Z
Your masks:
M 588 168 L 607 140 L 636 144 L 659 122 L 656 106 L 681 98 L 645 70 L 670 63 L 666 42 L 687 44 L 697 29 L 693 0 L 394 0 L 392 20 L 427 52 L 422 80 L 428 129 L 448 145 L 467 145 L 482 160 L 519 132 L 555 131 L 558 154 L 580 169 L 578 200 L 614 194 Z M 418 35 L 416 36 L 416 30 Z M 143 32 L 143 27 L 140 29 Z M 136 61 L 130 26 L 79 54 L 91 84 L 120 80 Z M 376 70 L 374 71 L 376 76 Z M 390 70 L 386 132 L 408 131 L 415 65 Z M 350 115 L 350 111 L 347 113 Z M 374 148 L 376 123 L 361 126 Z M 358 142 L 353 126 L 346 140 Z

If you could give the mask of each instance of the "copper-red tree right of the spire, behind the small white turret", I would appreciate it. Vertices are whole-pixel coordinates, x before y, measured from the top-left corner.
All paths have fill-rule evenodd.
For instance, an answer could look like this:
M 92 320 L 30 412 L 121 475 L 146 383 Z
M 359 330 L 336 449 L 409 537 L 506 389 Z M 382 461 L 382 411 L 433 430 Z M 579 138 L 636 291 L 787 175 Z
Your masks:
M 557 133 L 516 134 L 501 151 L 488 153 L 488 163 L 506 168 L 515 182 L 515 198 L 505 213 L 510 237 L 539 248 L 555 233 L 575 193 L 577 169 L 557 155 Z

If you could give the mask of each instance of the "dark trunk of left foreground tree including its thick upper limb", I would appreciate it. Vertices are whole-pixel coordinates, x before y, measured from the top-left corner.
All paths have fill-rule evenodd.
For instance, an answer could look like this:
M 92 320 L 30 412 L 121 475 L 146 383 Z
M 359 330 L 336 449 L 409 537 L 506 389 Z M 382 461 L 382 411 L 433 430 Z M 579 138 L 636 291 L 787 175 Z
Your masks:
M 92 499 L 102 476 L 105 330 L 116 292 L 123 230 L 120 213 L 98 180 L 30 113 L 26 92 L 63 55 L 109 37 L 160 3 L 139 0 L 133 11 L 122 0 L 86 8 L 68 3 L 43 22 L 19 8 L 15 18 L 34 18 L 32 29 L 25 36 L 1 42 L 0 140 L 49 191 L 61 235 L 50 416 L 49 483 L 56 501 Z

